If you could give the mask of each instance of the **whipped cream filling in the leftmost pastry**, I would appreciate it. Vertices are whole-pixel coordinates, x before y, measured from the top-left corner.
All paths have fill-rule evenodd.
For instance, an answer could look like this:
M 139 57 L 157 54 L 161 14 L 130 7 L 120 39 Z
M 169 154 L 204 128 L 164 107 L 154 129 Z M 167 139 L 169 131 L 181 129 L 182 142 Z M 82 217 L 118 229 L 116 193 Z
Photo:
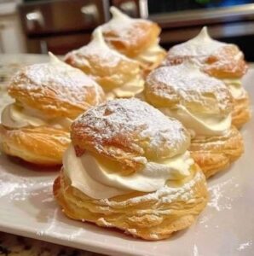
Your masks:
M 55 128 L 69 129 L 72 119 L 49 119 L 36 109 L 22 107 L 17 103 L 7 105 L 2 112 L 1 122 L 9 128 L 22 128 L 26 126 L 50 125 Z

